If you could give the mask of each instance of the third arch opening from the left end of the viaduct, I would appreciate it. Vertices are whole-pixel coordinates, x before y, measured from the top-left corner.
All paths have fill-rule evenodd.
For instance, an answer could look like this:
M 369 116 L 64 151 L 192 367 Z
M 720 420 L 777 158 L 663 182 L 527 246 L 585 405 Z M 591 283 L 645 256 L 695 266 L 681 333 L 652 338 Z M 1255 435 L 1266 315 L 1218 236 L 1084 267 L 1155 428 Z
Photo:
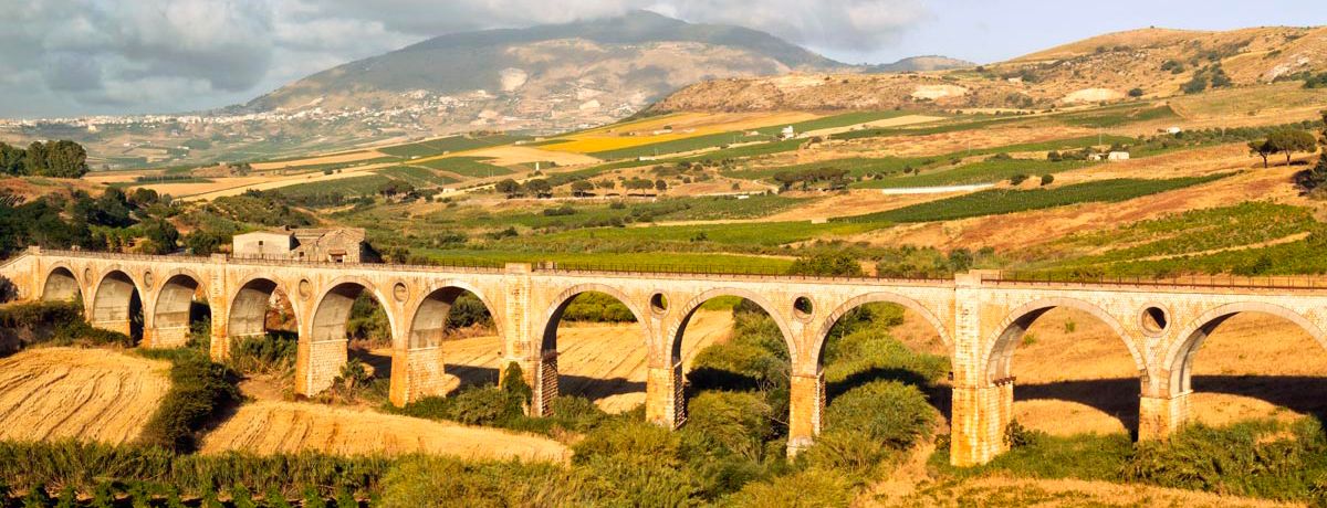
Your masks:
M 206 344 L 212 334 L 212 309 L 198 279 L 176 273 L 162 283 L 153 309 L 158 346 Z

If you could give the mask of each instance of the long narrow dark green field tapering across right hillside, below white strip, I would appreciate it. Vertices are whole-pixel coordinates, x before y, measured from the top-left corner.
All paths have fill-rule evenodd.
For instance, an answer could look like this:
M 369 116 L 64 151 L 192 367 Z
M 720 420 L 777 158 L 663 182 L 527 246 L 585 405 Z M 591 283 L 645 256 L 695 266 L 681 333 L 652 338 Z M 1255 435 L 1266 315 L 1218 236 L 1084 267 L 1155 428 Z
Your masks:
M 989 190 L 966 194 L 921 204 L 913 204 L 885 212 L 857 215 L 839 219 L 843 222 L 892 222 L 925 223 L 934 220 L 954 220 L 983 215 L 1014 214 L 1030 210 L 1054 208 L 1079 203 L 1111 203 L 1140 198 L 1149 194 L 1173 191 L 1177 188 L 1213 182 L 1227 175 L 1192 176 L 1172 179 L 1132 179 L 1075 183 L 1072 186 L 1023 190 Z

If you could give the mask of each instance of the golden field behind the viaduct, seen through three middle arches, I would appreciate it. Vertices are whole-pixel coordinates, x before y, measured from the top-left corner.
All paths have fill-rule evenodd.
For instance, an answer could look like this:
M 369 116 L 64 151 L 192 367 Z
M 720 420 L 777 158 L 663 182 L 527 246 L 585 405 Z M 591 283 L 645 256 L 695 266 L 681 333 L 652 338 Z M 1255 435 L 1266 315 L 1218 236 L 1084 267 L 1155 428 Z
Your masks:
M 731 328 L 730 312 L 697 312 L 682 338 L 682 369 L 690 369 L 705 346 L 727 340 Z M 564 324 L 557 330 L 557 353 L 559 393 L 591 398 L 610 413 L 645 402 L 645 338 L 638 325 Z M 494 382 L 502 342 L 496 337 L 449 341 L 445 358 L 450 387 Z

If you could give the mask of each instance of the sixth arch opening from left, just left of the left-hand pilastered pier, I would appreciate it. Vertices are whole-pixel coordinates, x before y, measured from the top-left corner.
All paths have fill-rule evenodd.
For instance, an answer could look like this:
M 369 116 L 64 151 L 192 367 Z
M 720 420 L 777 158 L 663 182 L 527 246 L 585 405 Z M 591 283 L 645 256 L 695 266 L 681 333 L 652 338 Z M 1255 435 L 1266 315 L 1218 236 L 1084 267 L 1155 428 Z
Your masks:
M 411 351 L 441 349 L 429 358 L 446 366 L 447 378 L 439 391 L 496 385 L 500 378 L 502 334 L 492 309 L 471 290 L 446 286 L 429 293 L 415 309 L 406 341 Z

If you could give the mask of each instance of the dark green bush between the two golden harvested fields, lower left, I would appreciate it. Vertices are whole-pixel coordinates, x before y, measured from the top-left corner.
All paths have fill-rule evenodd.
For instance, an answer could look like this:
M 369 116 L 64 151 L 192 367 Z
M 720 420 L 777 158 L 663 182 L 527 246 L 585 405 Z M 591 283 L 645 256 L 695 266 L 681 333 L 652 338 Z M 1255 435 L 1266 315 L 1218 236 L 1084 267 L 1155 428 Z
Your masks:
M 200 351 L 151 350 L 143 354 L 171 361 L 171 386 L 139 440 L 167 450 L 192 451 L 196 432 L 220 410 L 240 401 L 234 375 Z

